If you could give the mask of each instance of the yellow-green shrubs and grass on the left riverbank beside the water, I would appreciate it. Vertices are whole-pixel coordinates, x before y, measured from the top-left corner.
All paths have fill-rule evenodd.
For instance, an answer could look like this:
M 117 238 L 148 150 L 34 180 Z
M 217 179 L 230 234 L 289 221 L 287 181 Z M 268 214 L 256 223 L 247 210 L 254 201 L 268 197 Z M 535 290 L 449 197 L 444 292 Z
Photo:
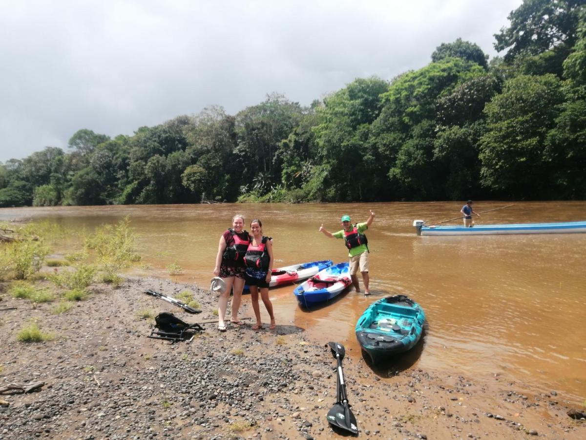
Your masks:
M 65 313 L 73 302 L 86 300 L 91 294 L 88 287 L 94 283 L 120 285 L 118 270 L 140 260 L 128 218 L 77 235 L 48 222 L 4 230 L 18 238 L 0 243 L 0 282 L 7 282 L 9 296 L 28 300 L 33 308 L 60 300 L 52 309 L 54 314 Z M 56 252 L 57 238 L 64 235 L 74 236 L 79 250 L 67 254 L 64 260 L 45 258 Z M 4 286 L 0 286 L 2 290 Z M 25 333 L 38 331 L 29 329 Z M 35 340 L 28 336 L 25 339 Z

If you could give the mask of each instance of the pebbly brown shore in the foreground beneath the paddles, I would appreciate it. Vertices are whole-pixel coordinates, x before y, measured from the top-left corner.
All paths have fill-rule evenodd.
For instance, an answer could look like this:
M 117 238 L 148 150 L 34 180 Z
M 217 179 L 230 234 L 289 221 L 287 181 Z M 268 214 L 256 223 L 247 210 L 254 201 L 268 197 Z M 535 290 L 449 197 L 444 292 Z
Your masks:
M 0 440 L 57 439 L 319 439 L 336 438 L 326 421 L 336 394 L 335 360 L 327 336 L 277 323 L 216 323 L 190 342 L 148 339 L 152 319 L 139 310 L 168 311 L 193 323 L 213 321 L 216 297 L 193 285 L 127 279 L 93 294 L 68 312 L 33 306 L 1 286 L 0 389 L 43 382 L 36 390 L 0 394 Z M 203 313 L 144 295 L 191 290 Z M 9 307 L 16 307 L 10 309 Z M 242 316 L 252 316 L 243 307 Z M 29 320 L 54 339 L 20 343 Z M 343 343 L 343 341 L 340 341 Z M 410 368 L 391 377 L 364 361 L 344 360 L 349 401 L 360 438 L 586 438 L 584 420 L 555 390 L 529 390 L 495 377 L 478 383 L 457 373 Z

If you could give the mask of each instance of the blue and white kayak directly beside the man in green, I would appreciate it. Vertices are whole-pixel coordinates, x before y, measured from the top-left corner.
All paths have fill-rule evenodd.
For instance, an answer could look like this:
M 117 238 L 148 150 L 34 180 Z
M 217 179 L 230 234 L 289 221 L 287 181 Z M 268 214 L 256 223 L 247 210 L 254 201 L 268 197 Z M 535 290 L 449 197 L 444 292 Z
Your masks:
M 299 304 L 311 307 L 332 299 L 352 284 L 348 263 L 338 263 L 321 270 L 293 291 Z

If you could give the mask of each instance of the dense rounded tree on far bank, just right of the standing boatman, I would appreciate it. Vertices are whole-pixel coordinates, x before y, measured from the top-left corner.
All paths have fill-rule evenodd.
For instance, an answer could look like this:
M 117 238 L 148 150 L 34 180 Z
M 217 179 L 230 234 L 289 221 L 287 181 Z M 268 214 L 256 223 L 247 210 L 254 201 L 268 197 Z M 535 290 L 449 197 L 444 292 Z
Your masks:
M 555 197 L 546 136 L 564 94 L 554 75 L 521 75 L 486 104 L 487 132 L 480 141 L 482 182 L 510 197 Z

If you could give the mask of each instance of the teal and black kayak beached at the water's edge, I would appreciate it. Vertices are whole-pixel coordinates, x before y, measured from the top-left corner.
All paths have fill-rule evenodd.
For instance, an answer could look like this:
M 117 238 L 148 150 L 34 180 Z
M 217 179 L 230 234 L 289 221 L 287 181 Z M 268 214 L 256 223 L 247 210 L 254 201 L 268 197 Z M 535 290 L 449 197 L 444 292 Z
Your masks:
M 425 313 L 405 295 L 370 304 L 356 323 L 356 338 L 373 364 L 410 350 L 423 333 Z

